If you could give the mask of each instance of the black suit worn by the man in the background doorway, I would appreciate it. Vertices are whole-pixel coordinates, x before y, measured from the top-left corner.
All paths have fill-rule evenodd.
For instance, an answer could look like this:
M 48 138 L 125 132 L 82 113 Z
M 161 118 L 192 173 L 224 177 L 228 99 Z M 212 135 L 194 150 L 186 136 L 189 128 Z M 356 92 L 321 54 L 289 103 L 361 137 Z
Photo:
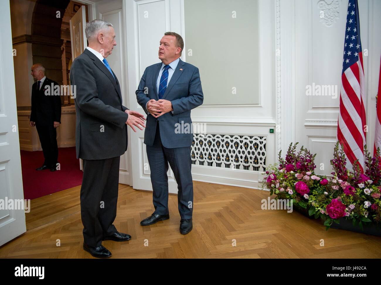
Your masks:
M 40 138 L 45 158 L 43 166 L 53 170 L 56 169 L 58 159 L 57 131 L 54 122 L 61 123 L 61 96 L 54 95 L 54 89 L 51 89 L 51 84 L 56 86 L 57 82 L 46 77 L 40 90 L 37 88 L 37 83 L 38 81 L 32 85 L 30 122 L 35 123 Z M 45 95 L 47 86 L 50 86 L 51 95 Z

